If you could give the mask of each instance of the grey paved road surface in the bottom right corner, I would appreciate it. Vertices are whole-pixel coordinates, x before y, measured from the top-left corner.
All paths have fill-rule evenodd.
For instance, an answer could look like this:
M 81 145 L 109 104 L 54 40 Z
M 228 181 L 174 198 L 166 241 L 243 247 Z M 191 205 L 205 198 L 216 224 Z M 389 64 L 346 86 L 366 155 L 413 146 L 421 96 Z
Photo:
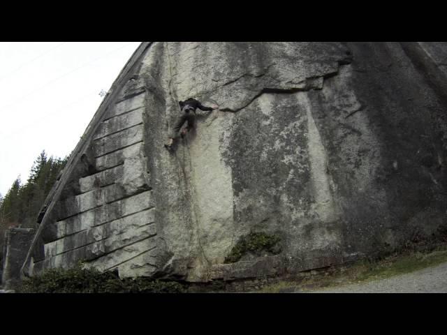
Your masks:
M 447 262 L 409 274 L 309 293 L 447 293 Z

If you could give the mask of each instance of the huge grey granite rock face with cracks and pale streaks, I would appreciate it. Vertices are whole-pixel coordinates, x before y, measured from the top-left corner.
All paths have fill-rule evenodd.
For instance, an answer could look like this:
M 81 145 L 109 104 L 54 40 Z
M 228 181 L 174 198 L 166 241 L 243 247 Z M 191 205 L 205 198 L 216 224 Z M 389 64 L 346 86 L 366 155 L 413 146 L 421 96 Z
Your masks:
M 446 225 L 446 43 L 143 43 L 71 157 L 24 272 L 294 273 Z M 178 101 L 196 129 L 163 147 Z M 225 264 L 241 237 L 280 253 Z

